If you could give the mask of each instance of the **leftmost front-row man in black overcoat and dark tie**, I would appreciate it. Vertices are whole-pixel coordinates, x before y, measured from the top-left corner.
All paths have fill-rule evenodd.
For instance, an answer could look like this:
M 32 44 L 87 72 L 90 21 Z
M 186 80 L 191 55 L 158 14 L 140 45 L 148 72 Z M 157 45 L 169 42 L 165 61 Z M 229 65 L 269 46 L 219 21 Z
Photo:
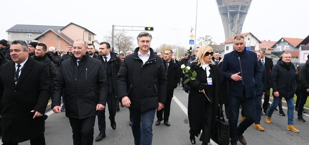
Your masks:
M 31 145 L 45 145 L 43 114 L 52 84 L 47 66 L 28 56 L 23 40 L 14 40 L 10 51 L 13 61 L 0 68 L 2 142 L 17 145 L 30 139 Z

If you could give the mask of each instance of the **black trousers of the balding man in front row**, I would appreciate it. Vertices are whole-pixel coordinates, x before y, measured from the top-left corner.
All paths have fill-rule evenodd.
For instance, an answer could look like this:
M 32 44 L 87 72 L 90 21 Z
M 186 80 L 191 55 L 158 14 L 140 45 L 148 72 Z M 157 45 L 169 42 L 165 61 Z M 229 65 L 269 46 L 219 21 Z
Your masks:
M 85 119 L 69 118 L 73 132 L 74 145 L 93 144 L 95 116 Z

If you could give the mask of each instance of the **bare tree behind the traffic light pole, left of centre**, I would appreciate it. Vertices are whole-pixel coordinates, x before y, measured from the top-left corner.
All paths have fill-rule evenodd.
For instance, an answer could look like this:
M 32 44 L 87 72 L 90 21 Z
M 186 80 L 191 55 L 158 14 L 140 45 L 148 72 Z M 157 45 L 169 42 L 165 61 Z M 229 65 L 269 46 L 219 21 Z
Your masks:
M 106 42 L 112 42 L 112 33 L 109 32 L 109 35 L 105 35 L 103 37 L 104 41 Z M 134 38 L 132 36 L 127 35 L 128 33 L 126 31 L 115 31 L 114 32 L 114 48 L 115 52 L 118 52 L 120 54 L 121 52 L 127 52 L 129 50 L 134 50 L 134 44 L 133 40 Z

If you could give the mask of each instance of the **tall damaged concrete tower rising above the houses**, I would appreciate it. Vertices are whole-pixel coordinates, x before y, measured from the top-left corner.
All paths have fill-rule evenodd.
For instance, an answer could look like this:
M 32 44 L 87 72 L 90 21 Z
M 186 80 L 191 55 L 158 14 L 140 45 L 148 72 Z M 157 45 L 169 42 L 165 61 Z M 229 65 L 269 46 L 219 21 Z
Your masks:
M 252 0 L 216 0 L 221 15 L 225 39 L 241 34 Z

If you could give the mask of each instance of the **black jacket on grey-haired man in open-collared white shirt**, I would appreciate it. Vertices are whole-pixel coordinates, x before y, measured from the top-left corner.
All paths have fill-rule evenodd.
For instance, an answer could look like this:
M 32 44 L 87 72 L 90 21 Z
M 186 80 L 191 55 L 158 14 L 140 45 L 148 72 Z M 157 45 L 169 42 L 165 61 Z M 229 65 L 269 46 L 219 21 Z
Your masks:
M 130 108 L 142 112 L 158 108 L 158 102 L 165 103 L 167 77 L 161 57 L 150 48 L 150 57 L 143 64 L 138 57 L 139 47 L 128 55 L 117 75 L 118 96 L 128 96 Z

